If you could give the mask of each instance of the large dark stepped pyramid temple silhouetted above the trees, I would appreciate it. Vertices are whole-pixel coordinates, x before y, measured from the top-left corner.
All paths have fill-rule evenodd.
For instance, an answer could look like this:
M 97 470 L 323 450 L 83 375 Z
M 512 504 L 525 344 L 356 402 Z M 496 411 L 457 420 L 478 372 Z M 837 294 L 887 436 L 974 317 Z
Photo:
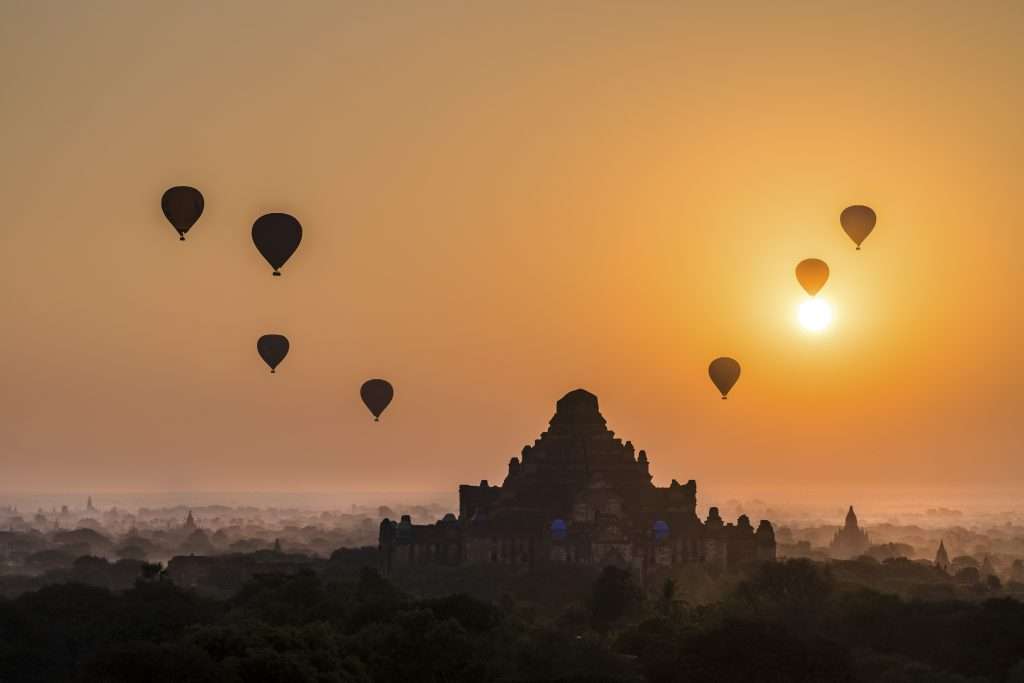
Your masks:
M 509 461 L 498 486 L 459 486 L 459 516 L 434 524 L 384 519 L 381 565 L 615 564 L 642 573 L 689 562 L 718 568 L 775 559 L 767 520 L 726 524 L 718 508 L 696 515 L 697 486 L 651 483 L 647 454 L 615 438 L 597 396 L 562 396 L 548 430 Z

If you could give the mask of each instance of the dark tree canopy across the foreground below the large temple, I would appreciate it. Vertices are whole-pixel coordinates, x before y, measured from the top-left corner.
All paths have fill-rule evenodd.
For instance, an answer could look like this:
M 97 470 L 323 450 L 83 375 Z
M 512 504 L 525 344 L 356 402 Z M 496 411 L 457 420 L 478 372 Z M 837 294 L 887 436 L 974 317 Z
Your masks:
M 258 575 L 227 600 L 140 574 L 0 599 L 0 681 L 1024 681 L 1024 604 L 852 590 L 808 561 L 699 607 L 668 583 L 645 600 L 609 567 L 550 622 L 511 598 L 417 598 L 365 568 Z

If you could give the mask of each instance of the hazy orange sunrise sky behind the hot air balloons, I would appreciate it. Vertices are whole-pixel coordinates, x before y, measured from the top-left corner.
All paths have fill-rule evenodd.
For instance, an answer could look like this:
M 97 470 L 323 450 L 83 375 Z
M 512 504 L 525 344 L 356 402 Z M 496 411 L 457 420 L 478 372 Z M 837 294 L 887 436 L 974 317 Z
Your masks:
M 1019 489 L 1022 34 L 1014 1 L 0 2 L 0 489 L 454 490 L 575 387 L 662 485 Z

